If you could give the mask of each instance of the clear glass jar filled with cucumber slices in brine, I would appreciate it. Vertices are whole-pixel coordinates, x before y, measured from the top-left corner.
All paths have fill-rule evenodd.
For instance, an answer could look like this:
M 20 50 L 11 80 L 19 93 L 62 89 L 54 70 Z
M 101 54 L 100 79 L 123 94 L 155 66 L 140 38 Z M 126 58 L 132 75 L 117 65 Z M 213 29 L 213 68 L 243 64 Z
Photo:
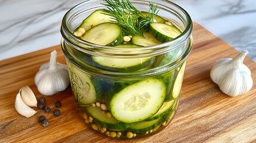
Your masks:
M 106 8 L 103 1 L 85 1 L 63 17 L 61 48 L 76 107 L 88 128 L 102 135 L 150 136 L 164 129 L 177 111 L 186 58 L 192 50 L 192 20 L 169 1 L 131 1 L 140 11 L 148 11 L 149 2 L 182 31 L 180 36 L 155 46 L 102 46 L 73 32 L 92 12 Z

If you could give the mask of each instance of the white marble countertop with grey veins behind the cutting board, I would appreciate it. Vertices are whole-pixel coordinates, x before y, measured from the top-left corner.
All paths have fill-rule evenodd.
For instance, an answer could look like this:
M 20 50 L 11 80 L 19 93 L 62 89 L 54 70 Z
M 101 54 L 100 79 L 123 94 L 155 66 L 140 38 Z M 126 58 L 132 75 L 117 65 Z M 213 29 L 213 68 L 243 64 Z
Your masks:
M 60 44 L 63 15 L 83 0 L 0 0 L 0 60 Z M 173 0 L 192 20 L 256 61 L 255 0 Z

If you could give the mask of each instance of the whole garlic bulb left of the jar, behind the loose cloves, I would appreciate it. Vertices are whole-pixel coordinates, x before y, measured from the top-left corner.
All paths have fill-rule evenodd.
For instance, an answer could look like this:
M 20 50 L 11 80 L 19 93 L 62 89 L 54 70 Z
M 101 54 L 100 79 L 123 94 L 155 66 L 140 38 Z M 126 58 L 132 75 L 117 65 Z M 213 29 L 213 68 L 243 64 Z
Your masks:
M 69 86 L 69 73 L 65 64 L 57 63 L 57 52 L 51 52 L 49 63 L 43 64 L 35 76 L 35 83 L 42 95 L 53 95 Z

